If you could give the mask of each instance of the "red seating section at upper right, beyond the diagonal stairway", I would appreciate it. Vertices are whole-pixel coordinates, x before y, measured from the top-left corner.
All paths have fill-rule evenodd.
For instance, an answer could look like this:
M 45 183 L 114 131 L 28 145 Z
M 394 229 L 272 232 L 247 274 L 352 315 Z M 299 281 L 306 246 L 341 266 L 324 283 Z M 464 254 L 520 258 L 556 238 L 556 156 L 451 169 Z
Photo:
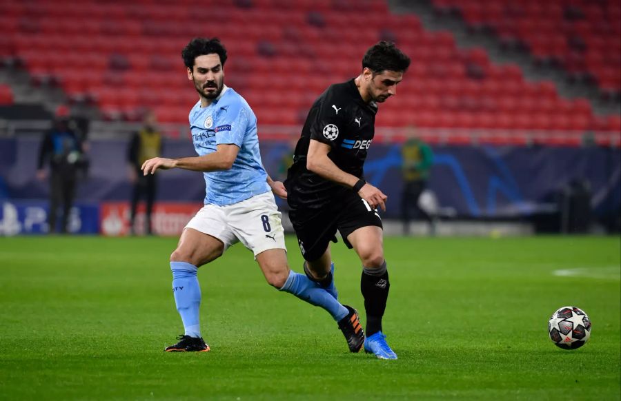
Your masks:
M 466 23 L 489 28 L 504 43 L 524 45 L 541 63 L 591 77 L 601 90 L 621 91 L 621 3 L 615 0 L 433 0 Z

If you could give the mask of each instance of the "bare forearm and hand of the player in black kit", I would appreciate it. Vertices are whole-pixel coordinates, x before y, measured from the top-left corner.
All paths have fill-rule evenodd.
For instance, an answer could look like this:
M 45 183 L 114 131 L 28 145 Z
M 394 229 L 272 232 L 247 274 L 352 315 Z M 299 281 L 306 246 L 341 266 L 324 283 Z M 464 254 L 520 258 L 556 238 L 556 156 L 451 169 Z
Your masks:
M 339 169 L 331 158 L 328 157 L 328 152 L 330 151 L 330 145 L 311 139 L 311 143 L 308 145 L 308 154 L 306 155 L 306 168 L 326 178 L 326 180 L 353 188 L 359 181 L 359 178 Z M 359 189 L 358 195 L 366 200 L 371 207 L 375 208 L 379 206 L 382 210 L 386 210 L 386 199 L 388 199 L 388 196 L 384 195 L 380 189 L 377 189 L 373 185 L 365 183 L 362 188 Z

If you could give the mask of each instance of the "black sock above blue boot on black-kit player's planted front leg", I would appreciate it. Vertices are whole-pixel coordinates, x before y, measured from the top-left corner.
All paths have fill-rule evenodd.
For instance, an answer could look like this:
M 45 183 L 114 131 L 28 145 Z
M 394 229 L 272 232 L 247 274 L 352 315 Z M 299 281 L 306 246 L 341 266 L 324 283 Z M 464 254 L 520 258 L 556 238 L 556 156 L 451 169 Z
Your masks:
M 386 310 L 388 290 L 391 282 L 388 280 L 386 262 L 379 269 L 362 269 L 360 278 L 360 291 L 364 297 L 364 309 L 366 311 L 366 336 L 373 336 L 377 331 L 382 331 L 382 318 Z

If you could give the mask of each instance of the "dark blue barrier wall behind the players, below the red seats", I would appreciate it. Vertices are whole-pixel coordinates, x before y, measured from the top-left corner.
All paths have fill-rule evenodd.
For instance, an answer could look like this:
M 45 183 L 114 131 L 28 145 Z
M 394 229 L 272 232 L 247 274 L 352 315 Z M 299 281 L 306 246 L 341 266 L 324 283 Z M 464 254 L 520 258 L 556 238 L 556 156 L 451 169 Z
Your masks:
M 91 167 L 79 186 L 78 199 L 127 200 L 130 196 L 126 141 L 90 143 Z M 282 164 L 290 144 L 261 143 L 264 165 L 282 179 Z M 34 178 L 39 142 L 0 140 L 0 197 L 46 198 L 47 183 Z M 440 206 L 457 216 L 498 218 L 549 212 L 573 181 L 589 184 L 591 207 L 600 216 L 618 212 L 621 204 L 621 154 L 610 148 L 464 147 L 433 148 L 430 189 Z M 193 156 L 189 141 L 168 141 L 168 157 Z M 366 162 L 367 181 L 388 195 L 386 217 L 400 214 L 401 156 L 399 145 L 373 143 Z M 196 201 L 204 197 L 199 173 L 159 172 L 159 200 Z

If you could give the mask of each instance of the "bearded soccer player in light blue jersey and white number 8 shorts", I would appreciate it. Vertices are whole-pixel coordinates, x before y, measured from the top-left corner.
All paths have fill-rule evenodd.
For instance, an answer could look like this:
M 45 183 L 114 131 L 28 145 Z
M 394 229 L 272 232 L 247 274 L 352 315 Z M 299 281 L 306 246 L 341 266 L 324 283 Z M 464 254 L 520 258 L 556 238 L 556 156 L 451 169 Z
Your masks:
M 172 291 L 185 333 L 164 351 L 209 351 L 199 325 L 197 270 L 237 242 L 253 251 L 270 285 L 326 309 L 350 351 L 360 351 L 364 333 L 357 311 L 337 301 L 334 287 L 324 289 L 288 267 L 281 215 L 272 194 L 286 198 L 286 189 L 263 168 L 255 114 L 242 96 L 224 85 L 224 45 L 215 38 L 196 38 L 181 56 L 200 96 L 190 111 L 190 132 L 199 156 L 151 158 L 142 170 L 145 175 L 158 168 L 203 172 L 206 196 L 205 206 L 186 225 L 170 255 Z

